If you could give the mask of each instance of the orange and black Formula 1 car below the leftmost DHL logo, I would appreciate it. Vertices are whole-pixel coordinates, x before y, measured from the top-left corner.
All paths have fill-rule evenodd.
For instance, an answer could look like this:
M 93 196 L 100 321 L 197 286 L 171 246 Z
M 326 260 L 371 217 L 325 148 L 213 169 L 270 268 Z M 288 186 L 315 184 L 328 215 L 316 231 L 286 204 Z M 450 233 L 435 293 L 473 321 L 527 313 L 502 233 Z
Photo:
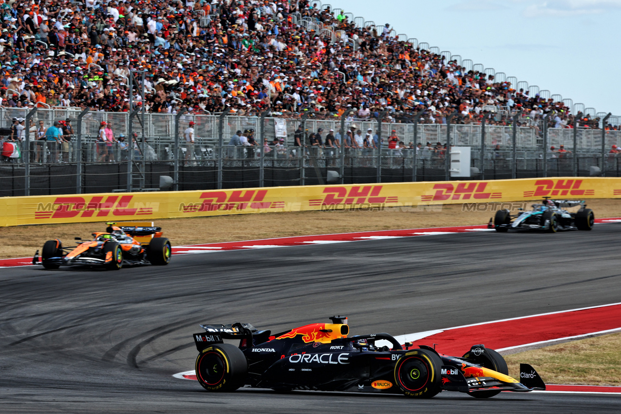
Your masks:
M 108 222 L 106 232 L 93 233 L 93 240 L 76 237 L 78 246 L 63 247 L 60 240 L 48 240 L 43 245 L 40 262 L 45 269 L 60 266 L 97 266 L 118 270 L 132 264 L 168 264 L 171 246 L 161 237 L 161 227 L 120 226 Z M 150 238 L 151 236 L 154 236 Z M 139 241 L 137 239 L 147 240 Z M 39 263 L 39 250 L 32 259 Z

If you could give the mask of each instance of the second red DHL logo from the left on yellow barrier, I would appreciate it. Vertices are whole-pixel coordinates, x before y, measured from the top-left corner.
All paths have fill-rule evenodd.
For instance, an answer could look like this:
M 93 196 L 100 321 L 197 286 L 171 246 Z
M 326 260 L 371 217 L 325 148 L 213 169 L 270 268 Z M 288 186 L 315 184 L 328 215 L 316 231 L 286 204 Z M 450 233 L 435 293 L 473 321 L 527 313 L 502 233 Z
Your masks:
M 201 194 L 202 202 L 181 203 L 179 211 L 184 213 L 204 211 L 230 211 L 250 209 L 278 209 L 284 201 L 264 201 L 268 190 L 206 191 Z

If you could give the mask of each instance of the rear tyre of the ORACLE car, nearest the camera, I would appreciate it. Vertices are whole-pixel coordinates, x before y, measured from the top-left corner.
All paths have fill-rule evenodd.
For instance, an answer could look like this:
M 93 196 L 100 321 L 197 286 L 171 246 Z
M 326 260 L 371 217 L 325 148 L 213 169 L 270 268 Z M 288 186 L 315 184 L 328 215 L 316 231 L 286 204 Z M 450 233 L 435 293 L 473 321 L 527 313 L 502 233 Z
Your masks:
M 210 392 L 232 392 L 244 385 L 248 361 L 233 344 L 207 346 L 196 358 L 196 379 Z

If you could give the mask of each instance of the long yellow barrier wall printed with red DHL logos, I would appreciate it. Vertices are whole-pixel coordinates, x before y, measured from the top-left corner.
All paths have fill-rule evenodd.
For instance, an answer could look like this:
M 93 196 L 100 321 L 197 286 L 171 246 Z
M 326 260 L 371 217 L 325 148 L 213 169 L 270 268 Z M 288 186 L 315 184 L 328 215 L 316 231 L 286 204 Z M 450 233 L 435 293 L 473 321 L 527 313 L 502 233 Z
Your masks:
M 621 178 L 527 178 L 0 197 L 0 227 L 321 209 L 621 198 Z

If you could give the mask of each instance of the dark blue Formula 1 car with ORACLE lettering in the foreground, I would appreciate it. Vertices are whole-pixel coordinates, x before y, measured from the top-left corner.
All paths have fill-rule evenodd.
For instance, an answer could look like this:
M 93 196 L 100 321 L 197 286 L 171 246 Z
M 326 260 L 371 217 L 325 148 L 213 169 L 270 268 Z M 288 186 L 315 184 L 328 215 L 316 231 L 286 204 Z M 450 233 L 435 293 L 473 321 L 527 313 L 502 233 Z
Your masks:
M 313 323 L 272 334 L 248 323 L 201 325 L 194 334 L 199 351 L 196 377 L 204 389 L 230 392 L 239 387 L 404 394 L 430 398 L 458 391 L 488 398 L 501 391 L 545 389 L 528 364 L 520 381 L 493 349 L 474 345 L 460 358 L 429 346 L 399 344 L 388 333 L 348 336 L 347 318 Z M 224 340 L 240 340 L 239 346 Z M 381 346 L 379 340 L 390 346 Z

